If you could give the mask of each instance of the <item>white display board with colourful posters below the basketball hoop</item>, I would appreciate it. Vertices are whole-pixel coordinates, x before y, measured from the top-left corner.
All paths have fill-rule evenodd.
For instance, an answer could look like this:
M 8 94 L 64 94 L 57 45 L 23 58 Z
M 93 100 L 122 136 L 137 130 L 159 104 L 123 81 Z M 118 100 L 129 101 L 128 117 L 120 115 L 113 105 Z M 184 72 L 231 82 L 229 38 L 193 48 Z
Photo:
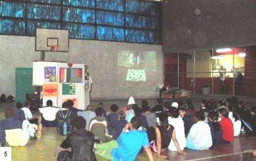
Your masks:
M 84 64 L 33 62 L 33 85 L 42 86 L 43 106 L 47 100 L 61 107 L 71 99 L 77 109 L 85 108 Z

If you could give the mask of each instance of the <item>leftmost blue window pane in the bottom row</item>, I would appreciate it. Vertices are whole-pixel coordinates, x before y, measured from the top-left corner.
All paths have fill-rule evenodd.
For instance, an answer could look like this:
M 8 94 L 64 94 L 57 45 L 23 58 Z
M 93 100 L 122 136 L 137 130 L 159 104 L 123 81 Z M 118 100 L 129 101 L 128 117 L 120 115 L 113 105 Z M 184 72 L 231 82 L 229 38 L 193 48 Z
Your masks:
M 21 20 L 3 20 L 0 18 L 0 33 L 25 34 L 25 22 Z

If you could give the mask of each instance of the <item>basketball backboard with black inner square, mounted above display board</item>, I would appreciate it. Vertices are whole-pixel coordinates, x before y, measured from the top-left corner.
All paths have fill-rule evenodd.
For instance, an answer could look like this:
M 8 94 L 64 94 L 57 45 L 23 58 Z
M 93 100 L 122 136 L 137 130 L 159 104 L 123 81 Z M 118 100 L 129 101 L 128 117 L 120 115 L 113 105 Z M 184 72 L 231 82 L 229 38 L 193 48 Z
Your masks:
M 68 30 L 36 28 L 35 51 L 69 52 Z

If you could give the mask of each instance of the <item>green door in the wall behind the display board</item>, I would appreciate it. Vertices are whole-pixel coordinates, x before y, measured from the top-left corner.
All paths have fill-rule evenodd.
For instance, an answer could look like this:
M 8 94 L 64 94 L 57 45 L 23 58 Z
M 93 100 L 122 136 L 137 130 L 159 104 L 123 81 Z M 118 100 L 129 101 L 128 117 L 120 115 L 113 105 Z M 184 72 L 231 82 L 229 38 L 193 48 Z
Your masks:
M 15 69 L 15 84 L 16 84 L 16 102 L 25 102 L 26 94 L 32 94 L 32 68 L 16 68 Z

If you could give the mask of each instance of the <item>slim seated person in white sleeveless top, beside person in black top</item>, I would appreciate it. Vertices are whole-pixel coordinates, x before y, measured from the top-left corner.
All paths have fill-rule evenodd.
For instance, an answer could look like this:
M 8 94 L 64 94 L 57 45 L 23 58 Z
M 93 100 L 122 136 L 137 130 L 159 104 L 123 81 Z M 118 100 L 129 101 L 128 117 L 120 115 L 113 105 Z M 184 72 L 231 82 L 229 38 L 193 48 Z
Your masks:
M 179 111 L 177 109 L 172 111 L 171 116 L 172 117 L 168 117 L 168 122 L 175 128 L 176 139 L 180 145 L 180 150 L 183 151 L 186 146 L 184 122 L 180 117 Z M 177 151 L 173 140 L 170 141 L 168 149 L 170 151 Z

